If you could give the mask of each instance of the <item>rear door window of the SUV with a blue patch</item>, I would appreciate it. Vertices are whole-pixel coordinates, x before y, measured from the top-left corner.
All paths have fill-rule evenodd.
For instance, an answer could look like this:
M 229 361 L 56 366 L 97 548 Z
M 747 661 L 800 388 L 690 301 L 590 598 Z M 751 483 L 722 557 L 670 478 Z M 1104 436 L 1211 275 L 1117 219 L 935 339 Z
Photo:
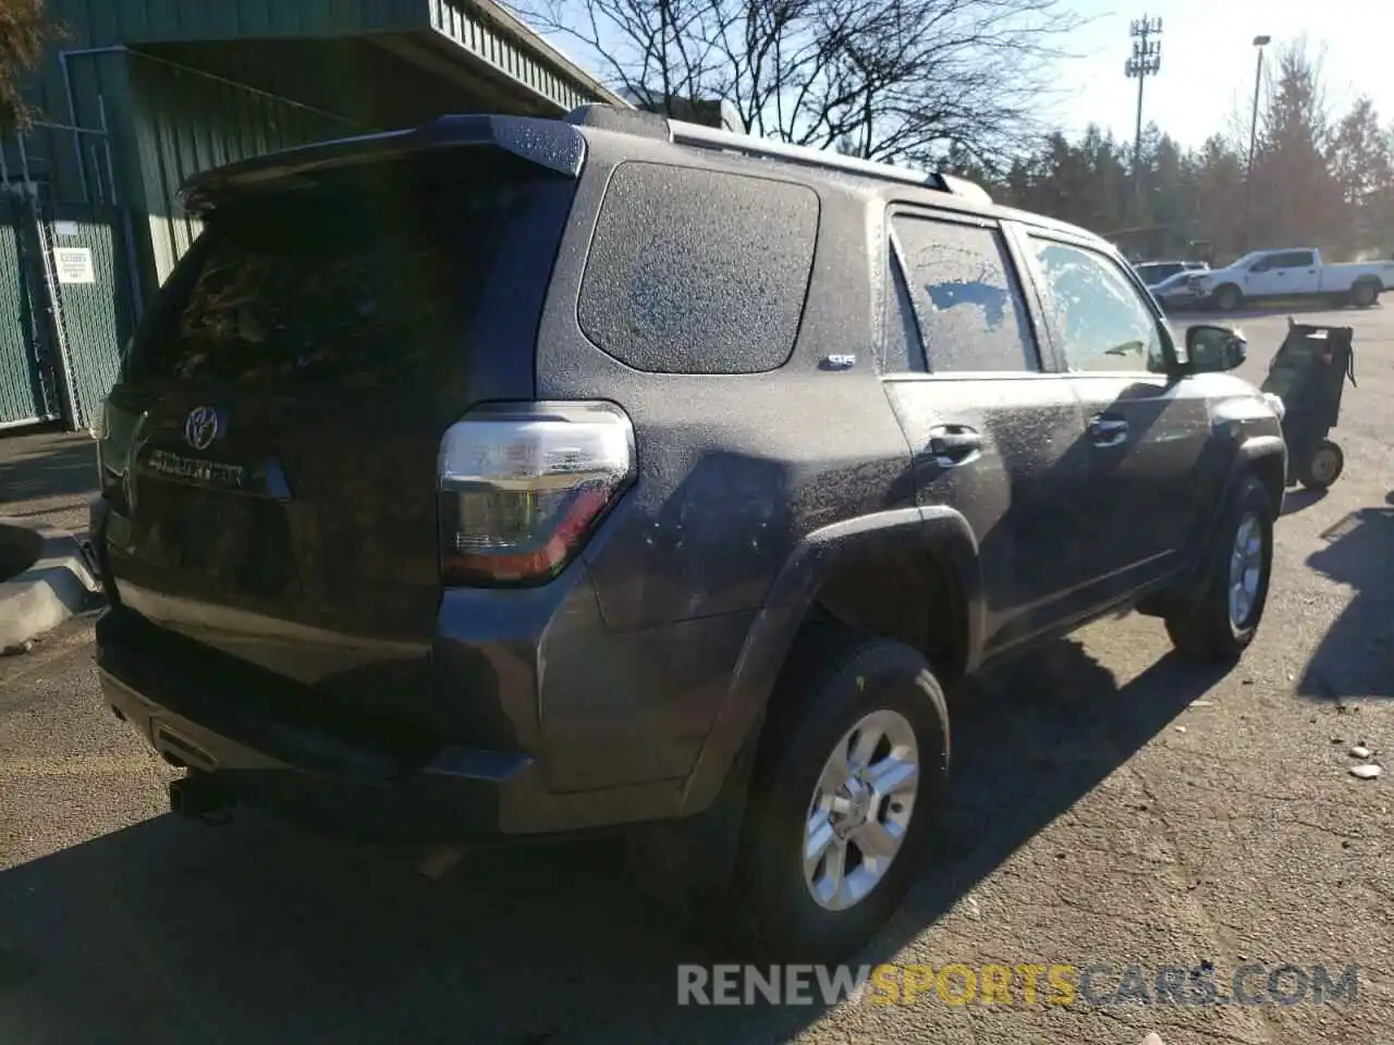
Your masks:
M 1001 233 L 906 215 L 892 224 L 931 372 L 1039 369 Z

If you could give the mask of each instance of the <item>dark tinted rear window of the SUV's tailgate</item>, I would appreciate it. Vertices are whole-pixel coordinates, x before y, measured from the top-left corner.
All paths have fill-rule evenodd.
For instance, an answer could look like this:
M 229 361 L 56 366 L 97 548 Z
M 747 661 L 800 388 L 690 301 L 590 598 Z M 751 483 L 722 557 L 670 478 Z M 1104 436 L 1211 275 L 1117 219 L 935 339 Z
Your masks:
M 213 212 L 131 376 L 450 380 L 509 219 L 542 177 L 482 160 L 375 163 Z

